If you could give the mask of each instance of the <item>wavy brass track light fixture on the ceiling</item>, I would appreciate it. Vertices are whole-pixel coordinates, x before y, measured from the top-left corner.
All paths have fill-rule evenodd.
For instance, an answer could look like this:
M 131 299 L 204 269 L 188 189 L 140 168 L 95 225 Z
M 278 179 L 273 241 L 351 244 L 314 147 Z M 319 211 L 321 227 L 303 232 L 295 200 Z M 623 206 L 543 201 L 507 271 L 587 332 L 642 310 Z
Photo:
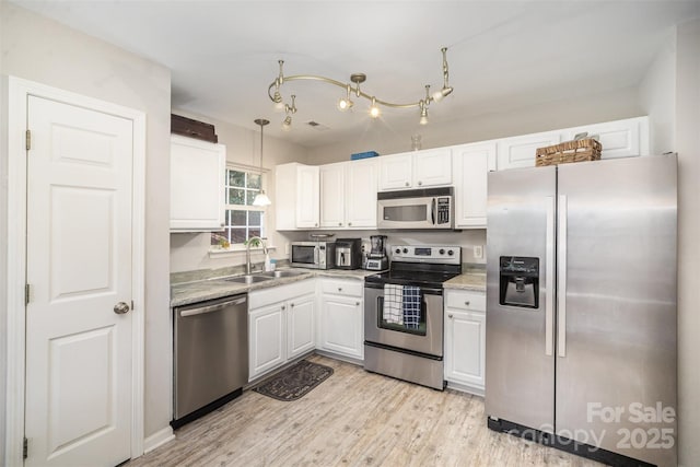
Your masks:
M 447 67 L 447 47 L 443 47 L 442 51 L 442 75 L 443 75 L 443 85 L 440 91 L 434 93 L 430 93 L 430 84 L 425 85 L 425 97 L 421 98 L 418 102 L 410 102 L 406 104 L 397 104 L 387 101 L 382 101 L 374 95 L 370 95 L 360 90 L 360 84 L 366 80 L 366 75 L 364 73 L 353 73 L 350 75 L 350 81 L 354 83 L 354 86 L 349 83 L 341 83 L 340 81 L 336 81 L 330 78 L 319 77 L 315 74 L 294 74 L 292 77 L 285 77 L 283 73 L 283 65 L 284 60 L 278 60 L 280 72 L 279 75 L 275 79 L 272 84 L 268 87 L 268 96 L 275 103 L 275 109 L 278 112 L 284 110 L 285 117 L 282 121 L 282 129 L 290 130 L 292 125 L 292 115 L 296 113 L 296 104 L 294 102 L 295 95 L 291 97 L 291 105 L 284 104 L 282 94 L 280 93 L 280 87 L 284 84 L 285 81 L 299 81 L 299 80 L 310 80 L 310 81 L 322 81 L 324 83 L 332 84 L 338 87 L 342 87 L 346 90 L 346 96 L 338 100 L 337 107 L 338 110 L 345 112 L 354 105 L 354 103 L 350 100 L 350 94 L 354 94 L 355 97 L 364 97 L 371 101 L 371 106 L 369 109 L 370 116 L 372 118 L 378 118 L 382 114 L 380 106 L 385 107 L 394 107 L 394 108 L 412 108 L 418 107 L 420 110 L 420 125 L 428 124 L 428 106 L 433 102 L 442 101 L 444 97 L 450 95 L 453 91 L 453 87 L 450 85 L 450 72 Z

